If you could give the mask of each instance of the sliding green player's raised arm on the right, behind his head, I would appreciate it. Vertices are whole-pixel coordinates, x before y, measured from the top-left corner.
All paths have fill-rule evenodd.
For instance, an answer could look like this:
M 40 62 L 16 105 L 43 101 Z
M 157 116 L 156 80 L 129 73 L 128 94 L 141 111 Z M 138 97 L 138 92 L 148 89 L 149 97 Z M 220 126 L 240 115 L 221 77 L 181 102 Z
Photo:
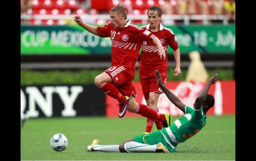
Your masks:
M 204 88 L 201 90 L 201 92 L 198 94 L 198 96 L 195 99 L 195 110 L 201 109 L 211 84 L 215 84 L 215 81 L 217 80 L 217 78 L 218 78 L 218 74 L 215 74 L 213 77 L 211 77 L 206 83 L 206 85 L 204 86 Z

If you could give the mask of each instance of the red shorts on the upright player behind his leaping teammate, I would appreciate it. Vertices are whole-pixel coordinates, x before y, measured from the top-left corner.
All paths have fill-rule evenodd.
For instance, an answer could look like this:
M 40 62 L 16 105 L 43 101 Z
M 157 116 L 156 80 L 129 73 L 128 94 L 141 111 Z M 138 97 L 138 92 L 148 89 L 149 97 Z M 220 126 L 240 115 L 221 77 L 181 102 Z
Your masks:
M 166 79 L 165 77 L 162 78 L 162 83 L 165 85 Z M 149 78 L 141 78 L 140 84 L 142 86 L 143 95 L 145 97 L 145 100 L 149 100 L 149 93 L 157 92 L 159 94 L 162 94 L 162 89 L 157 85 L 157 80 L 155 77 L 149 77 Z

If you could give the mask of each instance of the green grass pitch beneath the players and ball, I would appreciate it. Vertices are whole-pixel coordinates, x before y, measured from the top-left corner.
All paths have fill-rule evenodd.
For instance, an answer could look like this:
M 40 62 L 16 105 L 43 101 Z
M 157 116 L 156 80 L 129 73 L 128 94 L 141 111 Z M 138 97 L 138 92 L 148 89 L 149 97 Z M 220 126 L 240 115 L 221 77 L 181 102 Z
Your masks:
M 178 117 L 173 117 L 171 122 Z M 202 130 L 175 153 L 104 153 L 87 152 L 91 140 L 99 144 L 120 144 L 144 133 L 146 118 L 37 118 L 21 128 L 21 160 L 235 160 L 235 115 L 207 116 Z M 152 131 L 154 131 L 155 125 Z M 68 146 L 54 151 L 50 139 L 64 134 Z

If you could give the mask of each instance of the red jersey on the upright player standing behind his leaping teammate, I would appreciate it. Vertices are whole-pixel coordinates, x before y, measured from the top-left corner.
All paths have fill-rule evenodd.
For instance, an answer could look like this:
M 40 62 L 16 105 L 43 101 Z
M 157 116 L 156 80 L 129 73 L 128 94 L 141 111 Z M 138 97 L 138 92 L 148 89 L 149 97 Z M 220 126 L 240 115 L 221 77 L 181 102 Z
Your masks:
M 159 30 L 157 32 L 151 31 L 149 24 L 147 26 L 142 26 L 141 28 L 144 30 L 149 30 L 160 40 L 166 55 L 168 45 L 170 45 L 173 50 L 178 49 L 178 42 L 173 31 L 169 28 L 162 26 L 161 23 L 159 25 Z M 140 78 L 155 77 L 155 70 L 158 70 L 161 74 L 165 74 L 167 77 L 167 68 L 167 56 L 165 60 L 161 60 L 160 56 L 158 55 L 157 46 L 150 41 L 144 42 L 142 45 L 140 58 Z

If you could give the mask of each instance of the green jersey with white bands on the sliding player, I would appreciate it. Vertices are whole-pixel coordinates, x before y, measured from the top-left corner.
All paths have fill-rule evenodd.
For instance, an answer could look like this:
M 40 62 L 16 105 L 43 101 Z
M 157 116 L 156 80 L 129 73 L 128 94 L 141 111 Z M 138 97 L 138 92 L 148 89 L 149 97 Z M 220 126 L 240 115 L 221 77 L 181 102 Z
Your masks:
M 187 139 L 198 133 L 206 123 L 206 116 L 202 108 L 194 110 L 189 106 L 185 107 L 186 114 L 175 120 L 169 127 L 161 130 L 163 136 L 171 147 L 185 142 Z M 173 147 L 173 148 L 174 148 Z

